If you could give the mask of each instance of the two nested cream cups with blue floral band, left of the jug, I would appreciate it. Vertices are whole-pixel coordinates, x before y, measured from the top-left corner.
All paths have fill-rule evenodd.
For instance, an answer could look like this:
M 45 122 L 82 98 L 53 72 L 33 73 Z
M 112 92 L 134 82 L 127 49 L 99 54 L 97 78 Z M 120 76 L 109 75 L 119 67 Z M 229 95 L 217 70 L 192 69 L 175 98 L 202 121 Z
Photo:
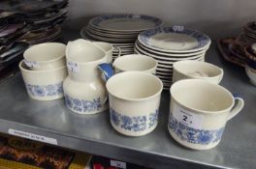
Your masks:
M 24 52 L 19 69 L 30 98 L 52 100 L 64 97 L 65 50 L 63 43 L 46 42 L 33 45 Z

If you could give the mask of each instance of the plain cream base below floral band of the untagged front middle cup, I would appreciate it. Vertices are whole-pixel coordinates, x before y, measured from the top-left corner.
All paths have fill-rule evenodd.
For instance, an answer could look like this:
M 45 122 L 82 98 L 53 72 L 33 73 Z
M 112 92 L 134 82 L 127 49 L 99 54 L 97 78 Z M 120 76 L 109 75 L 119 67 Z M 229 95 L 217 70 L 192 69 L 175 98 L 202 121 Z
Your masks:
M 111 122 L 112 124 L 112 122 Z M 152 132 L 156 127 L 157 127 L 157 124 L 154 125 L 153 127 L 150 127 L 148 129 L 145 129 L 144 131 L 128 131 L 128 130 L 125 130 L 125 129 L 121 129 L 120 127 L 116 127 L 114 124 L 112 124 L 112 127 L 119 133 L 123 134 L 123 135 L 127 135 L 127 136 L 133 136 L 133 137 L 137 137 L 137 136 L 143 136 L 143 135 L 146 135 L 150 132 Z

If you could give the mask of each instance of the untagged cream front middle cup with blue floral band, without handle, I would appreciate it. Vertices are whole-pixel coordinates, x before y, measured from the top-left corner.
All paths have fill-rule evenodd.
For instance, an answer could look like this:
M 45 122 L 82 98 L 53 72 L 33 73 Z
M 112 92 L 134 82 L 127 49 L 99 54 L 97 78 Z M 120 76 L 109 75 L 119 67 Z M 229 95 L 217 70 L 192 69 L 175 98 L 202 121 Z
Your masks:
M 147 72 L 114 74 L 106 84 L 112 127 L 129 136 L 151 132 L 158 122 L 162 81 Z

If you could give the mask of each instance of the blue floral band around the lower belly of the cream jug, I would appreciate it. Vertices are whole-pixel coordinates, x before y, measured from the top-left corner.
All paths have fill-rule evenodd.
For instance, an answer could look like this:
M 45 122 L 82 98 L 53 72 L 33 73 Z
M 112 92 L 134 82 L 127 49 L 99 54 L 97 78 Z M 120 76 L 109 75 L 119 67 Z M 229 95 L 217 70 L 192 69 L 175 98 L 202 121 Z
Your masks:
M 100 98 L 84 100 L 74 99 L 72 97 L 65 95 L 65 102 L 71 110 L 75 110 L 80 113 L 100 110 L 100 108 L 102 107 L 102 102 Z

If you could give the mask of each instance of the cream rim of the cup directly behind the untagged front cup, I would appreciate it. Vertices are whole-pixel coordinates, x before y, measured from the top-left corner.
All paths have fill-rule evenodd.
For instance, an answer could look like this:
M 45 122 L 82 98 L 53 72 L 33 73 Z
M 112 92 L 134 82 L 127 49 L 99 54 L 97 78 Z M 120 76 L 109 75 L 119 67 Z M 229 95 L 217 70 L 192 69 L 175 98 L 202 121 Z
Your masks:
M 147 61 L 150 60 L 150 62 L 154 62 L 154 67 L 150 68 L 149 70 L 123 70 L 120 67 L 116 66 L 116 63 L 118 61 L 120 62 L 121 59 L 125 59 L 125 58 L 128 58 L 128 57 L 138 57 L 138 58 L 141 57 L 141 58 L 145 58 L 145 59 L 147 59 Z M 157 65 L 158 65 L 158 63 L 157 63 L 157 61 L 154 58 L 151 58 L 151 57 L 143 55 L 143 54 L 128 54 L 128 55 L 119 56 L 112 63 L 112 66 L 114 68 L 117 68 L 118 70 L 121 70 L 121 71 L 151 71 L 151 70 L 155 70 L 157 68 Z

